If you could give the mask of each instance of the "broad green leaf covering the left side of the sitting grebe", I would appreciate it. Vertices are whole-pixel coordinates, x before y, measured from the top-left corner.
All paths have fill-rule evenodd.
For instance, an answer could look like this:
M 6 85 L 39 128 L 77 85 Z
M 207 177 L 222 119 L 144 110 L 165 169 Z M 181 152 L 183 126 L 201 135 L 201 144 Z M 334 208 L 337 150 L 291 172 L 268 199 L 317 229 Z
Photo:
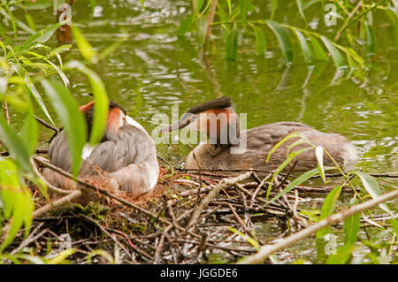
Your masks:
M 78 103 L 65 87 L 54 80 L 42 80 L 42 87 L 65 127 L 72 156 L 71 172 L 76 176 L 81 163 L 81 150 L 87 141 L 86 120 L 79 111 Z

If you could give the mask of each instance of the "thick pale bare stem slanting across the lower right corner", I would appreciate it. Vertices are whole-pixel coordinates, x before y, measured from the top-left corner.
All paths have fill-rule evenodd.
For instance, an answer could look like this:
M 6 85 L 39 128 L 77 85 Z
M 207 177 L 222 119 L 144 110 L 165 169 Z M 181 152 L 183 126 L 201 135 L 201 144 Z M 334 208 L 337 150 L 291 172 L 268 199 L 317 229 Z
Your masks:
M 391 201 L 394 198 L 398 197 L 398 189 L 395 189 L 392 192 L 387 194 L 382 194 L 376 199 L 372 199 L 367 202 L 363 202 L 352 206 L 348 210 L 342 210 L 339 213 L 334 214 L 333 216 L 326 217 L 325 219 L 319 221 L 316 224 L 310 225 L 309 227 L 303 229 L 301 232 L 296 232 L 295 234 L 287 237 L 285 240 L 280 240 L 278 243 L 274 245 L 266 245 L 260 248 L 260 250 L 255 255 L 249 255 L 240 262 L 239 264 L 253 264 L 253 263 L 263 263 L 266 258 L 280 249 L 287 248 L 288 246 L 294 244 L 299 240 L 303 240 L 309 237 L 312 233 L 317 232 L 325 228 L 326 226 L 334 225 L 343 221 L 347 217 L 351 217 L 359 212 L 364 212 L 365 210 L 370 210 L 380 203 Z

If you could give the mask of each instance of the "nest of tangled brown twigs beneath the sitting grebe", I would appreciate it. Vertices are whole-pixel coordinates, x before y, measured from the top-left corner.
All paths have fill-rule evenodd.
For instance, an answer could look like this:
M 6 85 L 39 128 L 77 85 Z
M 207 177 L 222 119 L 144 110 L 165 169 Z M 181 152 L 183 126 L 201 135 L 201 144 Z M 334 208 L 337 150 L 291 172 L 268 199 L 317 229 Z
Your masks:
M 154 191 L 134 198 L 83 181 L 102 198 L 101 204 L 61 202 L 48 210 L 43 210 L 47 201 L 36 193 L 36 212 L 43 212 L 34 216 L 30 235 L 24 239 L 21 232 L 8 250 L 15 254 L 29 247 L 35 255 L 50 258 L 73 248 L 68 257 L 72 263 L 88 263 L 88 257 L 90 263 L 110 263 L 110 257 L 118 263 L 233 263 L 256 253 L 256 242 L 265 243 L 252 232 L 256 220 L 276 218 L 279 235 L 296 231 L 308 225 L 300 213 L 299 204 L 305 200 L 301 195 L 330 191 L 296 187 L 267 203 L 272 173 L 263 178 L 256 171 L 236 174 L 220 178 L 203 171 L 161 168 Z M 277 177 L 270 196 L 287 183 L 287 175 Z M 95 252 L 98 249 L 109 256 Z M 96 255 L 90 255 L 93 252 Z

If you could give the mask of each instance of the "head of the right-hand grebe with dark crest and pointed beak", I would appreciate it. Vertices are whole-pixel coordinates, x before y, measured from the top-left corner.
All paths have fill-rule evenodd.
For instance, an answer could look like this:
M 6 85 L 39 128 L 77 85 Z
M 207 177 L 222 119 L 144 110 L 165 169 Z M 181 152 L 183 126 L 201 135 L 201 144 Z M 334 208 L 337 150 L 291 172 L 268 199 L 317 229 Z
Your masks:
M 240 134 L 240 121 L 233 110 L 230 97 L 221 97 L 195 105 L 188 109 L 178 122 L 163 128 L 160 132 L 170 132 L 184 127 L 207 133 L 210 143 L 215 145 L 230 144 Z

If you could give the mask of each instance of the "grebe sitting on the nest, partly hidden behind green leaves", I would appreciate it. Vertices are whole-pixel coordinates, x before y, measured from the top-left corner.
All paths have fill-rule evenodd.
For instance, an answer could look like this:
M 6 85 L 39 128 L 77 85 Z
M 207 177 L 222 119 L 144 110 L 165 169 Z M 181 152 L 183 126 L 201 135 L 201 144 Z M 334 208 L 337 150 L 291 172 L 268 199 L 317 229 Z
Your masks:
M 94 103 L 80 107 L 87 120 L 88 133 L 91 131 Z M 49 156 L 51 164 L 71 171 L 71 155 L 65 131 L 50 142 Z M 86 145 L 81 157 L 80 178 L 94 179 L 131 194 L 144 194 L 157 184 L 159 165 L 155 142 L 139 123 L 128 117 L 126 111 L 113 101 L 109 104 L 103 140 L 94 148 Z M 72 180 L 50 169 L 45 169 L 43 176 L 55 187 L 72 189 L 75 185 Z

